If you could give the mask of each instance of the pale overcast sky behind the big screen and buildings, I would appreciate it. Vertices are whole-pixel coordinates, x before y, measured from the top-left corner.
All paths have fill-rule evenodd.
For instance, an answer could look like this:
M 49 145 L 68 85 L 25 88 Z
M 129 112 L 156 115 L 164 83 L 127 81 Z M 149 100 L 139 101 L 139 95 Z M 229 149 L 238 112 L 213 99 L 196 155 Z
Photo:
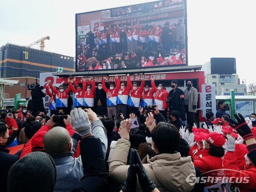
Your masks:
M 146 2 L 152 0 L 1 0 L 0 46 L 26 46 L 49 35 L 46 51 L 75 57 L 76 13 Z M 255 7 L 253 0 L 187 0 L 189 65 L 234 57 L 239 78 L 256 82 Z

